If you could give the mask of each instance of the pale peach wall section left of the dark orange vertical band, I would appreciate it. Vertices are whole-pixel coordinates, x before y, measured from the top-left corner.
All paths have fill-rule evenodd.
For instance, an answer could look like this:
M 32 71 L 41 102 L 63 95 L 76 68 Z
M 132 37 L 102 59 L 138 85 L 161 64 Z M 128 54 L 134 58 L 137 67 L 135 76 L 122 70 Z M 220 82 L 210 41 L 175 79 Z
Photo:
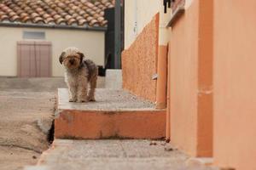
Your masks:
M 172 27 L 170 41 L 171 142 L 196 155 L 198 1 Z

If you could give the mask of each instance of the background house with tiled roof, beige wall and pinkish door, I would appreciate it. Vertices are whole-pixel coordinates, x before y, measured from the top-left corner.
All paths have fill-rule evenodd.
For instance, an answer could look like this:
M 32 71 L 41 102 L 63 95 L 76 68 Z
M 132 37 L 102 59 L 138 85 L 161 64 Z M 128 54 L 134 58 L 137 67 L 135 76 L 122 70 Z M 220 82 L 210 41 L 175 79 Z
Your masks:
M 0 76 L 62 77 L 62 50 L 77 47 L 96 65 L 105 65 L 104 10 L 112 0 L 0 3 Z

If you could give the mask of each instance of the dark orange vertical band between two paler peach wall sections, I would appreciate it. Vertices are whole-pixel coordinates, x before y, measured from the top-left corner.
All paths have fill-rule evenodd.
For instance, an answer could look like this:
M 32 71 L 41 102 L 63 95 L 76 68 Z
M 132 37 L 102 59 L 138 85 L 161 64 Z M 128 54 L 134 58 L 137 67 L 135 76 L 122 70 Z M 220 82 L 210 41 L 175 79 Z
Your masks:
M 212 156 L 213 0 L 200 0 L 197 84 L 197 156 Z

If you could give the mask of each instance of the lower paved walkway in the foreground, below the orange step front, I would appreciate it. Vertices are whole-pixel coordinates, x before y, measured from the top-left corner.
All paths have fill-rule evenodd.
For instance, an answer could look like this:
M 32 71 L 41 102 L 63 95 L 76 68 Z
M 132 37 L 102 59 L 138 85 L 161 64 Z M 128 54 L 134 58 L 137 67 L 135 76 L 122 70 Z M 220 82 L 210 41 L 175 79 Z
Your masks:
M 214 169 L 188 165 L 188 159 L 164 141 L 55 139 L 53 148 L 44 152 L 38 167 L 26 170 Z

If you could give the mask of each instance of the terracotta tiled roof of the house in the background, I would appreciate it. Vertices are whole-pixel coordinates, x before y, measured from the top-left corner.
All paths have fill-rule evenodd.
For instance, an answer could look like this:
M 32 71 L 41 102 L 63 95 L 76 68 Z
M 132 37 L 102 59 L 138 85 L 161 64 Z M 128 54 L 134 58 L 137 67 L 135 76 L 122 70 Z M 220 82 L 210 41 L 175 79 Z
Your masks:
M 114 0 L 3 0 L 0 22 L 107 26 L 104 9 L 113 5 Z

